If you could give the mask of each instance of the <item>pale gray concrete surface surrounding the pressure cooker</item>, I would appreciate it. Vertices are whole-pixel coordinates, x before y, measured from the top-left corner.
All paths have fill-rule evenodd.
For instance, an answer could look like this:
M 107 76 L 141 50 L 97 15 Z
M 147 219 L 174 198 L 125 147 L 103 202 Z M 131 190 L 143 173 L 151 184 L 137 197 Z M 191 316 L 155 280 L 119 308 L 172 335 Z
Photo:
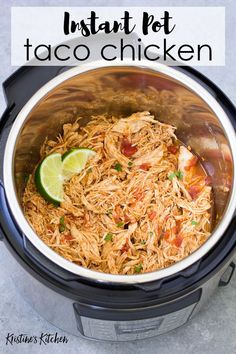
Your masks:
M 236 1 L 220 0 L 0 0 L 0 82 L 15 70 L 10 66 L 10 7 L 11 6 L 225 6 L 226 7 L 226 66 L 198 68 L 207 75 L 236 104 Z M 219 43 L 220 45 L 220 43 Z M 0 92 L 0 113 L 5 108 Z M 110 344 L 97 343 L 68 335 L 50 325 L 20 297 L 11 279 L 5 275 L 4 260 L 8 257 L 0 244 L 0 353 L 156 353 L 156 354 L 235 354 L 236 353 L 236 276 L 229 286 L 220 289 L 193 321 L 169 334 L 140 342 Z M 10 270 L 14 272 L 14 267 Z M 65 319 L 66 320 L 66 319 Z M 67 335 L 68 344 L 30 344 L 5 346 L 8 332 L 40 335 L 41 332 Z

